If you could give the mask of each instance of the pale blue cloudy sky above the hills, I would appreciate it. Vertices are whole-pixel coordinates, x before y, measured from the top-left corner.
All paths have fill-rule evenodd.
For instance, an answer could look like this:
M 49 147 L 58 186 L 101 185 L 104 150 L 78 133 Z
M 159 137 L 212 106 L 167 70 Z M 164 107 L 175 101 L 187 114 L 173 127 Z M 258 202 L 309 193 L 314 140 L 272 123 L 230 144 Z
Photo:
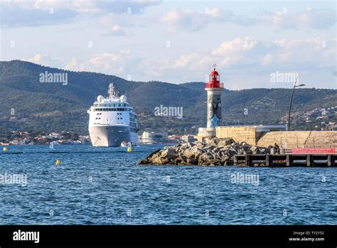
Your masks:
M 336 1 L 0 0 L 0 10 L 1 61 L 168 83 L 205 81 L 215 63 L 230 90 L 297 77 L 337 88 Z

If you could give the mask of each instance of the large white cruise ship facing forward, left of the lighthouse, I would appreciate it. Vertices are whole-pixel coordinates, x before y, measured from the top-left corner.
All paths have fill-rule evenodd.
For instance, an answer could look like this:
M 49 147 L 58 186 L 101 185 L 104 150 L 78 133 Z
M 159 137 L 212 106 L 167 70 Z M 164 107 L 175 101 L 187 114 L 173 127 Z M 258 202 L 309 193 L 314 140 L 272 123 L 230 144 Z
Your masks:
M 89 133 L 93 146 L 138 145 L 137 115 L 127 96 L 119 96 L 114 84 L 109 84 L 108 97 L 97 96 L 89 113 Z

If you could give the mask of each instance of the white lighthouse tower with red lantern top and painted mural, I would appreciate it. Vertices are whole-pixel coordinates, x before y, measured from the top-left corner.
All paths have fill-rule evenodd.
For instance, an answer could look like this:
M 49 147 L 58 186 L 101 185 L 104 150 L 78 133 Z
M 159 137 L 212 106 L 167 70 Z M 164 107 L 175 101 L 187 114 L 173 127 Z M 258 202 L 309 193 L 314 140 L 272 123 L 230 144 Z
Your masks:
M 209 82 L 205 83 L 207 91 L 207 128 L 208 137 L 215 137 L 215 127 L 222 124 L 221 115 L 221 93 L 223 93 L 223 83 L 220 83 L 220 75 L 215 71 L 210 72 Z

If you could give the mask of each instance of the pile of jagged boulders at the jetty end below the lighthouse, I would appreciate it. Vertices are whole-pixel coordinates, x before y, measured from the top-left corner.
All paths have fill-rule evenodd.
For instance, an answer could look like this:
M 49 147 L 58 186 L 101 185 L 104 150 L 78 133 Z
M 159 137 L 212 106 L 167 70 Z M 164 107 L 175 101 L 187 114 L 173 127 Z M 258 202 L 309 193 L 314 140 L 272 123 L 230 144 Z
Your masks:
M 236 143 L 232 138 L 211 138 L 158 149 L 139 165 L 233 165 L 236 154 L 268 154 L 270 148 Z

